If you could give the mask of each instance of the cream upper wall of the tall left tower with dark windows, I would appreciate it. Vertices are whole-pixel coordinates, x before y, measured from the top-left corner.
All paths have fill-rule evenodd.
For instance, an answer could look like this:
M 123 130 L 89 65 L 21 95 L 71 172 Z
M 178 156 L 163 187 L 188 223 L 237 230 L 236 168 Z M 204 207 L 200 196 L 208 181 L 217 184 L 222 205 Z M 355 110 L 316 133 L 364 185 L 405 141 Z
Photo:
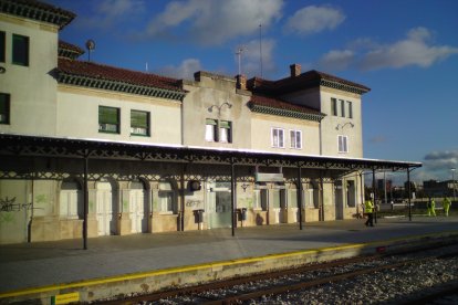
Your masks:
M 0 133 L 55 135 L 58 28 L 0 13 L 6 32 L 6 73 L 0 74 L 0 92 L 11 95 L 10 125 Z M 12 64 L 12 34 L 29 36 L 29 66 Z

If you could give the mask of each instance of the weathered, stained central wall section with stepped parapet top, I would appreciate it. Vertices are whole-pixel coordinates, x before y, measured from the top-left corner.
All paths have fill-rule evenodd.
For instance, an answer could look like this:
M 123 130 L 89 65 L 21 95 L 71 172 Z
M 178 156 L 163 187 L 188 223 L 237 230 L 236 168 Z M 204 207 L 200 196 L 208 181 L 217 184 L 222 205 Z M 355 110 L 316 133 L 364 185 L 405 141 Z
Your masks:
M 247 107 L 250 93 L 236 90 L 233 78 L 207 72 L 200 72 L 200 77 L 197 81 L 186 81 L 184 90 L 189 92 L 183 102 L 184 145 L 250 148 L 251 112 Z M 229 108 L 223 103 L 229 103 L 231 107 Z M 232 143 L 206 141 L 207 118 L 231 122 Z

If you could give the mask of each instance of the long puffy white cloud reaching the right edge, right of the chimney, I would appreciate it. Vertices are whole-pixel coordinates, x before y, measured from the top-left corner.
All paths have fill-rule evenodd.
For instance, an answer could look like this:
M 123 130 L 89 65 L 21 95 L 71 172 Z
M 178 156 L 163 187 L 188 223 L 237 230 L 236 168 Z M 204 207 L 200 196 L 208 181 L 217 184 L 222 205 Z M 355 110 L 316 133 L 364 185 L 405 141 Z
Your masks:
M 434 45 L 433 33 L 426 28 L 408 31 L 405 39 L 392 44 L 378 44 L 367 39 L 357 40 L 345 50 L 332 50 L 320 63 L 329 70 L 343 70 L 354 65 L 360 70 L 400 69 L 409 65 L 429 67 L 458 54 L 458 48 Z

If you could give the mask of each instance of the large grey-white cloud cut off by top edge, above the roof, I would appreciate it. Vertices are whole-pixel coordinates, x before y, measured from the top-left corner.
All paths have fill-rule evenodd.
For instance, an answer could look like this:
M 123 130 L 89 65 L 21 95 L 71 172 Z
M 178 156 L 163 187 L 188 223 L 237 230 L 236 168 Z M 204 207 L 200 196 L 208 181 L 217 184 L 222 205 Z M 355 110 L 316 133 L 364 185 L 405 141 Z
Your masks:
M 174 1 L 152 19 L 142 35 L 177 39 L 177 31 L 185 31 L 190 41 L 218 45 L 256 33 L 260 23 L 269 27 L 280 19 L 282 6 L 283 0 Z

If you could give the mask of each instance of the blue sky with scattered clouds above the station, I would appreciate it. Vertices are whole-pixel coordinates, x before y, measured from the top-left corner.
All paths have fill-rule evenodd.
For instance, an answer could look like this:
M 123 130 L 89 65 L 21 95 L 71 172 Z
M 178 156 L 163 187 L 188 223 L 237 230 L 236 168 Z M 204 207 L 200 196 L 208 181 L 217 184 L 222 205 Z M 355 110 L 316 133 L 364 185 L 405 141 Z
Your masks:
M 76 13 L 60 39 L 94 40 L 97 63 L 267 80 L 299 63 L 368 86 L 364 158 L 423 162 L 417 182 L 458 179 L 456 0 L 45 1 Z

